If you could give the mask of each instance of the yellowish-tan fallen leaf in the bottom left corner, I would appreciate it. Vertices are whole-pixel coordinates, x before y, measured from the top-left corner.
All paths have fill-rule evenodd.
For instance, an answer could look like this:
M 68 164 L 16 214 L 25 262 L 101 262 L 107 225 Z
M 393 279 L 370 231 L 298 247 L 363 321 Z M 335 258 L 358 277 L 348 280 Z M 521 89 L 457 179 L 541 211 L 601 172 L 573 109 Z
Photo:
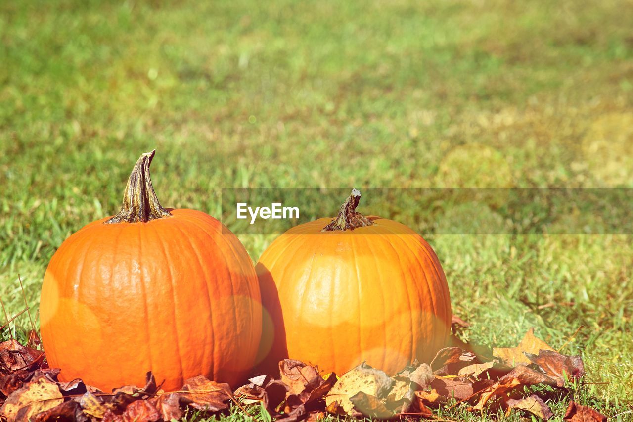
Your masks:
M 0 416 L 4 416 L 8 422 L 28 421 L 39 412 L 52 409 L 61 402 L 63 396 L 57 384 L 45 376 L 38 376 L 7 397 L 0 407 Z

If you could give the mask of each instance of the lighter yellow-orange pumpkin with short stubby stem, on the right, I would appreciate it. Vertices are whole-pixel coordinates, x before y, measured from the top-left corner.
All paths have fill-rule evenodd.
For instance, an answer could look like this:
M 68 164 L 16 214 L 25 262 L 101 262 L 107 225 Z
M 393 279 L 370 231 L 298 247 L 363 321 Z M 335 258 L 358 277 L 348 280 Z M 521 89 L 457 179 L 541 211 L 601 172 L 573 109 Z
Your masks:
M 360 214 L 359 201 L 354 189 L 335 219 L 292 227 L 261 255 L 262 371 L 290 357 L 394 374 L 445 347 L 451 301 L 436 253 L 409 227 Z

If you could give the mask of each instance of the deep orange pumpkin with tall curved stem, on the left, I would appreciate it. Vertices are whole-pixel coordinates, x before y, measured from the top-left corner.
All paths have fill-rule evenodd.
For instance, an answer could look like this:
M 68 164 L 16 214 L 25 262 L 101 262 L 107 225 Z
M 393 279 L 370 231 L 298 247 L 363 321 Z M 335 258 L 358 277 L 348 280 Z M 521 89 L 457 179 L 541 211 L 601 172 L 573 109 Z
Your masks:
M 203 212 L 161 207 L 139 158 L 118 214 L 66 239 L 41 292 L 41 336 L 60 379 L 105 392 L 164 390 L 197 375 L 236 385 L 253 369 L 261 298 L 253 262 L 227 227 Z

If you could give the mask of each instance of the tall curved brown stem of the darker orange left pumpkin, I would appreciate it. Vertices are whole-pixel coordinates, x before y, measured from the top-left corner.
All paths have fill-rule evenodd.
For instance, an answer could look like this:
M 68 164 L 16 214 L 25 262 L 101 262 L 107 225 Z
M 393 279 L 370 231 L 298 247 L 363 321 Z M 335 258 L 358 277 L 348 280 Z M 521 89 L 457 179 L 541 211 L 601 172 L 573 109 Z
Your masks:
M 106 221 L 106 224 L 118 222 L 148 222 L 154 219 L 169 217 L 170 214 L 161 207 L 156 192 L 149 176 L 149 165 L 156 150 L 141 155 L 134 165 L 132 174 L 127 180 L 123 193 L 123 205 L 114 217 Z

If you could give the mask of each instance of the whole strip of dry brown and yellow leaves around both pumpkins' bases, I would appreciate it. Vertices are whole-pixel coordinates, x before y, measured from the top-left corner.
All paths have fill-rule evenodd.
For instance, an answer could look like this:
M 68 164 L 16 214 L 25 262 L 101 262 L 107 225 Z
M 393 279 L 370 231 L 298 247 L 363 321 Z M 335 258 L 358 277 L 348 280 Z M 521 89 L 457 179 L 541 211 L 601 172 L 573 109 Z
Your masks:
M 171 421 L 195 409 L 208 414 L 238 406 L 248 414 L 293 422 L 326 414 L 378 419 L 437 418 L 442 407 L 466 403 L 472 412 L 523 412 L 553 416 L 546 403 L 525 388 L 565 385 L 584 375 L 582 359 L 553 350 L 530 330 L 520 345 L 494 348 L 487 358 L 460 347 L 440 350 L 429 363 L 414 362 L 394 376 L 363 363 L 337 376 L 316 366 L 285 359 L 279 376 L 261 375 L 235 392 L 229 385 L 197 376 L 177 392 L 164 392 L 151 373 L 144 387 L 101 392 L 82 380 L 58 381 L 44 354 L 15 340 L 0 343 L 0 419 L 8 421 Z M 525 393 L 529 391 L 529 393 Z M 564 394 L 556 397 L 566 397 Z M 465 405 L 466 406 L 466 405 Z M 565 421 L 606 421 L 573 401 Z

